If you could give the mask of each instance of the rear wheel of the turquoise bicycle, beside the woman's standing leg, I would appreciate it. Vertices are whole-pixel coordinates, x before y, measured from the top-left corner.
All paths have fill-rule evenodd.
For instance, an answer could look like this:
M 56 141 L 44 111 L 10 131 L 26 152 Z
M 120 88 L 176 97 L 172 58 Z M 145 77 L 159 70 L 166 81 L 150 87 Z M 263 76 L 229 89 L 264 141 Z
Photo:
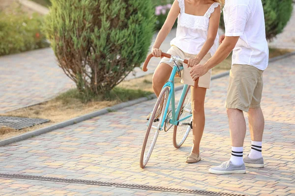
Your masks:
M 185 92 L 180 108 L 181 108 L 181 111 L 178 114 L 177 120 L 183 119 L 187 117 L 188 115 L 192 114 L 190 86 L 187 87 L 187 90 Z M 192 117 L 188 118 L 184 121 L 181 121 L 181 123 L 191 123 L 192 119 L 193 119 Z M 174 132 L 173 132 L 173 146 L 176 148 L 181 147 L 181 145 L 186 140 L 190 130 L 191 130 L 190 125 L 181 125 L 181 126 L 175 125 Z

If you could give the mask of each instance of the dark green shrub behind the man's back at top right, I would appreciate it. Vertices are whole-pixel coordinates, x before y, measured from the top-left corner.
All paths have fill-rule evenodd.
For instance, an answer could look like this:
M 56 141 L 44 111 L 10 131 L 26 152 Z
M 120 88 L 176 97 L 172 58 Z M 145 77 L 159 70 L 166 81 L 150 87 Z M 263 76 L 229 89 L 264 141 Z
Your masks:
M 266 20 L 266 39 L 272 40 L 283 32 L 291 18 L 293 0 L 262 0 Z M 220 27 L 224 29 L 223 16 Z

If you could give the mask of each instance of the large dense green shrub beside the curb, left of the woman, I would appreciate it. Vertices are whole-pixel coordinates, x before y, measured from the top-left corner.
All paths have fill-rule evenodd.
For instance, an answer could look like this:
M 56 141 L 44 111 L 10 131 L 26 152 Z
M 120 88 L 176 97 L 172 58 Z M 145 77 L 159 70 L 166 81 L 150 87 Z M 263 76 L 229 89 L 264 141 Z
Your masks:
M 154 31 L 149 0 L 51 0 L 44 30 L 82 94 L 105 94 L 145 60 Z

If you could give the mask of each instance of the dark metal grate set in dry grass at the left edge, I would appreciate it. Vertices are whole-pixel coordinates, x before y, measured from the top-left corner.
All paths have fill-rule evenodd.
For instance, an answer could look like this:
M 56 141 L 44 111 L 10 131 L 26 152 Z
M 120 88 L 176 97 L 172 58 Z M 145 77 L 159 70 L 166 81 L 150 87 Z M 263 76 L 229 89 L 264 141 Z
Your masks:
M 36 124 L 46 123 L 49 120 L 46 119 L 29 119 L 29 118 L 18 118 L 18 117 L 0 117 L 0 127 L 8 126 L 14 129 L 22 129 L 30 127 Z

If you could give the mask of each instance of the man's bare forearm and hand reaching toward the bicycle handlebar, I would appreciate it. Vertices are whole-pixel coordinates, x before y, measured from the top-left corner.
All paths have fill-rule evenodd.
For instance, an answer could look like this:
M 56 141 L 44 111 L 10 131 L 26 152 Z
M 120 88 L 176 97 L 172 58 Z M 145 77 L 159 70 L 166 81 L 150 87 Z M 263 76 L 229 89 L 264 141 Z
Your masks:
M 219 46 L 215 54 L 210 58 L 204 65 L 195 65 L 190 73 L 195 81 L 198 77 L 201 77 L 205 73 L 207 73 L 210 69 L 221 63 L 224 59 L 226 59 L 231 51 L 235 48 L 236 43 L 239 39 L 239 36 L 235 37 L 225 37 L 222 44 Z

